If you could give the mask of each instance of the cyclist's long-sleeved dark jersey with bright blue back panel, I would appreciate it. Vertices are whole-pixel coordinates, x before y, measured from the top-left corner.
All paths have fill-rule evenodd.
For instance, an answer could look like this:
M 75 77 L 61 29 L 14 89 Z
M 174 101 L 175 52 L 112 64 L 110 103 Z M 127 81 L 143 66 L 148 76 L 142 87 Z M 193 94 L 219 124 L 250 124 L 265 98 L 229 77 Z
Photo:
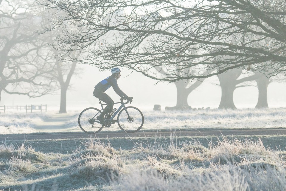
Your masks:
M 118 96 L 120 97 L 126 96 L 126 94 L 123 93 L 122 90 L 120 90 L 120 88 L 118 87 L 117 79 L 115 78 L 114 75 L 111 75 L 105 78 L 104 80 L 100 81 L 98 84 L 96 84 L 94 88 L 97 89 L 98 91 L 105 92 L 111 86 L 113 87 L 115 93 L 118 94 Z

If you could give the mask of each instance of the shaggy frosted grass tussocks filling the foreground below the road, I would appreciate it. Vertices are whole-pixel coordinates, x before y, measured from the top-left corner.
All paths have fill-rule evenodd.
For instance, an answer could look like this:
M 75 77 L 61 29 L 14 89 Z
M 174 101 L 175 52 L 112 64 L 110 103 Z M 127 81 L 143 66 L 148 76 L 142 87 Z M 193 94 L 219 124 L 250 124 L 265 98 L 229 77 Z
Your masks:
M 171 137 L 114 149 L 90 138 L 71 154 L 0 144 L 4 190 L 286 190 L 285 151 L 260 139 L 227 139 L 204 147 Z

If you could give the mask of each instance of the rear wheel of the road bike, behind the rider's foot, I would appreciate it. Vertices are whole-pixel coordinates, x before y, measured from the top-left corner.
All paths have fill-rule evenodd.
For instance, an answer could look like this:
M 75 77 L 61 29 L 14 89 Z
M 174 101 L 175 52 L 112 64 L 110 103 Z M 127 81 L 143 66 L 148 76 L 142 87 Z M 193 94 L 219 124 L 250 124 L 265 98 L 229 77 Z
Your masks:
M 101 111 L 94 107 L 84 109 L 78 116 L 78 125 L 83 132 L 88 134 L 98 133 L 102 130 L 103 125 L 97 120 Z

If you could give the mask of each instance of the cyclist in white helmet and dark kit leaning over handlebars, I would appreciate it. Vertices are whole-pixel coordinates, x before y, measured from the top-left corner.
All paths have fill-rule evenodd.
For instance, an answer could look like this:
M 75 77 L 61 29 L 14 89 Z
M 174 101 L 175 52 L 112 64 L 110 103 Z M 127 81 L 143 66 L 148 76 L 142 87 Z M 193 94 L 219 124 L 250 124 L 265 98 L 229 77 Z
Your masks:
M 97 119 L 100 121 L 101 124 L 104 121 L 104 115 L 111 113 L 114 105 L 114 101 L 106 93 L 104 93 L 108 88 L 112 86 L 115 93 L 117 93 L 121 98 L 130 99 L 130 97 L 123 93 L 122 90 L 120 90 L 117 84 L 117 80 L 121 76 L 121 70 L 119 68 L 113 68 L 111 69 L 111 73 L 112 75 L 100 81 L 94 87 L 93 91 L 93 96 L 99 98 L 101 101 L 107 104 L 102 113 L 97 116 Z

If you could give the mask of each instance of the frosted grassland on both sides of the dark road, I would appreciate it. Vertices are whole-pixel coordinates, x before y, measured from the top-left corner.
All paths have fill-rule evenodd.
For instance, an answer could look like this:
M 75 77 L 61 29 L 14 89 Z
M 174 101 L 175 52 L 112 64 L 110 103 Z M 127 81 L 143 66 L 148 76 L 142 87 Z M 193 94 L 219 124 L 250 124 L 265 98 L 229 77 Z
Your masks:
M 1 113 L 1 134 L 81 132 L 79 113 Z M 143 111 L 142 130 L 286 127 L 285 113 L 286 108 Z M 7 139 L 0 143 L 0 190 L 286 190 L 285 140 L 286 135 Z

